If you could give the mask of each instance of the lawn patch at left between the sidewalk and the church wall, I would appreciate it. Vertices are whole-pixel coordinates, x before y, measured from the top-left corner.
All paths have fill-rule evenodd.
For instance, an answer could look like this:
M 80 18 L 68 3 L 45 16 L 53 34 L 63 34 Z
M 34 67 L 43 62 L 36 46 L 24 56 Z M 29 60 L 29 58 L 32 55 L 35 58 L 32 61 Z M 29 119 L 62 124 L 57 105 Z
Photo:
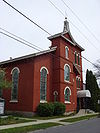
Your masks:
M 0 126 L 1 125 L 24 123 L 24 122 L 30 122 L 30 121 L 36 121 L 36 120 L 25 119 L 25 118 L 22 119 L 19 117 L 8 116 L 7 118 L 0 118 Z

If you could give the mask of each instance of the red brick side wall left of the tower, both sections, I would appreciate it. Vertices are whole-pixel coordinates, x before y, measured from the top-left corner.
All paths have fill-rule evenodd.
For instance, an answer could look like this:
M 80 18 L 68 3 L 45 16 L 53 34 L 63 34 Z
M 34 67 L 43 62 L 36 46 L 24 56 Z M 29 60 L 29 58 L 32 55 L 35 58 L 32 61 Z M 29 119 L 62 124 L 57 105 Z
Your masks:
M 11 80 L 11 70 L 18 67 L 19 85 L 18 102 L 11 101 L 11 89 L 5 90 L 6 109 L 11 111 L 36 111 L 40 103 L 40 69 L 46 67 L 47 75 L 47 101 L 52 101 L 52 54 L 37 56 L 34 59 L 17 61 L 6 65 L 7 77 Z

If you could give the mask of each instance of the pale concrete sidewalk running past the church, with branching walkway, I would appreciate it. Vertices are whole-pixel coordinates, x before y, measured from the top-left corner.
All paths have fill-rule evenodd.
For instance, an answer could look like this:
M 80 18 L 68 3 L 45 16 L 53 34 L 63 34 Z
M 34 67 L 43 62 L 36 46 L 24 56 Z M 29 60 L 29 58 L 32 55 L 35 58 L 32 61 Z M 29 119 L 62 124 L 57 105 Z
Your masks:
M 76 115 L 70 116 L 70 117 L 63 117 L 63 118 L 56 118 L 56 119 L 49 119 L 49 120 L 36 120 L 36 121 L 33 121 L 33 122 L 11 124 L 11 125 L 3 125 L 3 126 L 0 126 L 0 130 L 8 129 L 8 128 L 15 128 L 15 127 L 29 126 L 29 125 L 36 125 L 36 124 L 48 123 L 48 122 L 54 122 L 54 123 L 60 123 L 60 124 L 63 124 L 63 125 L 68 125 L 70 123 L 61 122 L 60 120 L 69 119 L 69 118 L 75 118 L 75 117 L 80 117 L 80 116 L 85 116 L 85 115 L 91 115 L 91 114 L 83 114 L 83 115 L 77 115 L 76 114 Z

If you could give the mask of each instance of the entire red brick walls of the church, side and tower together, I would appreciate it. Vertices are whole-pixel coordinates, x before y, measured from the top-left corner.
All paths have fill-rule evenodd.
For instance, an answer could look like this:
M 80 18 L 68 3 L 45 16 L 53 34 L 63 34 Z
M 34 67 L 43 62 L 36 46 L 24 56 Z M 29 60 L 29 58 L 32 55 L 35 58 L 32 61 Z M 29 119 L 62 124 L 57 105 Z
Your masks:
M 68 34 L 65 35 L 69 39 Z M 57 100 L 65 102 L 64 89 L 68 86 L 71 89 L 70 104 L 65 103 L 66 111 L 73 111 L 77 108 L 77 88 L 76 88 L 76 74 L 73 71 L 73 62 L 75 62 L 74 52 L 80 53 L 78 47 L 64 40 L 62 37 L 52 39 L 51 47 L 57 46 L 54 53 L 40 55 L 30 59 L 24 59 L 4 65 L 7 67 L 7 77 L 11 80 L 11 70 L 18 67 L 19 86 L 18 86 L 18 102 L 12 103 L 11 90 L 5 90 L 3 96 L 6 99 L 6 109 L 16 111 L 35 112 L 40 103 L 40 69 L 46 67 L 48 69 L 47 75 L 47 101 L 54 101 L 53 92 L 58 92 Z M 69 48 L 69 59 L 65 58 L 65 46 Z M 59 58 L 60 57 L 60 58 Z M 64 81 L 64 65 L 68 64 L 71 68 L 70 82 Z M 82 81 L 82 60 L 80 59 L 80 66 Z M 81 82 L 82 86 L 82 82 Z

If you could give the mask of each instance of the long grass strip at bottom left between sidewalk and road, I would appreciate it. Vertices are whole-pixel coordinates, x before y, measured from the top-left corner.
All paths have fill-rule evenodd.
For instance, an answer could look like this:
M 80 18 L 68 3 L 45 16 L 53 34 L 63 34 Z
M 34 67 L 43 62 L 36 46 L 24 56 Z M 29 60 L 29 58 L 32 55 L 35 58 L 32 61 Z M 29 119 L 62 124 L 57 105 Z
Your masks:
M 58 126 L 61 124 L 58 123 L 43 123 L 43 124 L 37 124 L 37 125 L 31 125 L 31 126 L 25 126 L 25 127 L 16 127 L 11 129 L 3 129 L 0 130 L 0 133 L 27 133 L 29 131 L 39 130 L 39 129 L 46 129 L 52 126 Z

